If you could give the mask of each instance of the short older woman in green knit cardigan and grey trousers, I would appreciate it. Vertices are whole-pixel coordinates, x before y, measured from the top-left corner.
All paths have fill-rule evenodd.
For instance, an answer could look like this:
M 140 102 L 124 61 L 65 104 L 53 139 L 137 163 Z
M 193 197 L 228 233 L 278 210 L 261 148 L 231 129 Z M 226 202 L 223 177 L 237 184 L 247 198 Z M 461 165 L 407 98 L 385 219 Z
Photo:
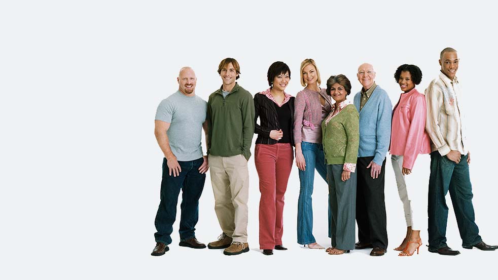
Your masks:
M 330 255 L 349 253 L 354 249 L 356 160 L 360 144 L 359 114 L 352 102 L 346 100 L 351 93 L 349 79 L 340 74 L 327 80 L 327 94 L 335 104 L 322 123 L 325 162 L 329 183 Z

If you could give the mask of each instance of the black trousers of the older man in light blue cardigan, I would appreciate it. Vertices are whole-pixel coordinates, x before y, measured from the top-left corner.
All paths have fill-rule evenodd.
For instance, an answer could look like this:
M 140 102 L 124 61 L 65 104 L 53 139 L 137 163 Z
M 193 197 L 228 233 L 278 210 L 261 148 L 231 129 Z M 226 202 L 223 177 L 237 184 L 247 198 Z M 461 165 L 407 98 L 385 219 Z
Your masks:
M 371 243 L 374 247 L 387 248 L 387 229 L 384 203 L 385 159 L 379 177 L 370 176 L 367 166 L 373 156 L 358 157 L 356 221 L 358 239 L 362 243 Z

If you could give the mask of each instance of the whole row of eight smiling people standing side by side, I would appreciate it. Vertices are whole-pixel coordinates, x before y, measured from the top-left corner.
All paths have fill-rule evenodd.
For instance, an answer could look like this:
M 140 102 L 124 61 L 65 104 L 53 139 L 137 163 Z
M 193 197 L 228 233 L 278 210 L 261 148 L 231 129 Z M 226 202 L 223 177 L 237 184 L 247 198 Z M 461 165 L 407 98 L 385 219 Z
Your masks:
M 316 170 L 329 187 L 331 247 L 326 252 L 340 255 L 371 248 L 371 256 L 384 255 L 384 174 L 388 151 L 407 225 L 403 242 L 395 248 L 401 251 L 400 256 L 411 256 L 415 251 L 418 254 L 425 221 L 429 221 L 430 252 L 459 254 L 446 245 L 448 191 L 463 247 L 497 249 L 482 241 L 474 221 L 470 153 L 455 76 L 458 62 L 454 49 L 444 49 L 439 60 L 441 73 L 425 95 L 415 89 L 421 81 L 420 69 L 407 64 L 398 67 L 394 77 L 402 93 L 394 109 L 387 93 L 376 85 L 375 71 L 368 63 L 358 68 L 362 90 L 355 94 L 353 102 L 347 99 L 351 83 L 343 74 L 330 76 L 326 88 L 319 87 L 321 76 L 312 59 L 301 63 L 300 82 L 304 89 L 296 97 L 285 92 L 291 70 L 280 61 L 268 69 L 269 88 L 253 99 L 236 83 L 240 77 L 238 62 L 233 58 L 222 60 L 218 73 L 223 85 L 209 96 L 207 103 L 195 95 L 194 71 L 182 68 L 177 78 L 179 90 L 164 99 L 156 112 L 155 135 L 164 159 L 152 255 L 163 255 L 169 250 L 180 189 L 179 245 L 206 247 L 197 241 L 194 227 L 208 168 L 222 234 L 207 247 L 224 249 L 225 255 L 249 250 L 247 161 L 254 133 L 258 135 L 255 165 L 261 192 L 259 243 L 265 255 L 272 255 L 273 250 L 287 250 L 282 244 L 283 206 L 294 155 L 300 179 L 297 242 L 310 249 L 325 249 L 316 243 L 312 233 L 311 194 Z M 202 153 L 202 129 L 207 156 Z M 414 170 L 423 173 L 416 158 L 428 153 L 431 174 L 426 188 L 426 184 L 414 184 L 410 174 Z M 428 207 L 424 207 L 427 202 Z M 357 243 L 355 221 L 359 229 Z

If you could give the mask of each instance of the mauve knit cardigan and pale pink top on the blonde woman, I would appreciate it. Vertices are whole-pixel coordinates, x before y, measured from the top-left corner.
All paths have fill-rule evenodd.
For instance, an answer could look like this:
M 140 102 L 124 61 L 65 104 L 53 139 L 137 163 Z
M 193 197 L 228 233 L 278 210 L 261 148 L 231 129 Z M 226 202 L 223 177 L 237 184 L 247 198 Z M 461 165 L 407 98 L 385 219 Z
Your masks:
M 325 105 L 322 106 L 318 95 L 325 99 Z M 294 102 L 294 143 L 322 143 L 322 122 L 332 108 L 330 96 L 325 89 L 320 92 L 303 89 Z

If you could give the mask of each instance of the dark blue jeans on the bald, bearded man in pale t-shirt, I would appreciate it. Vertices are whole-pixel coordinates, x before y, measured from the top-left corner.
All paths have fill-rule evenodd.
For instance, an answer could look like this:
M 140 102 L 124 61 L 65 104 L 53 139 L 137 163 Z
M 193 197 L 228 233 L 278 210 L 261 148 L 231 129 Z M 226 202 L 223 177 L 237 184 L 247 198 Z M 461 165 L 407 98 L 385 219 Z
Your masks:
M 195 225 L 199 219 L 199 198 L 206 174 L 199 173 L 199 167 L 203 163 L 203 158 L 190 162 L 178 162 L 182 168 L 179 176 L 169 175 L 169 168 L 166 158 L 163 159 L 163 178 L 161 181 L 161 202 L 156 214 L 156 230 L 154 237 L 156 242 L 166 245 L 171 244 L 171 232 L 176 218 L 176 204 L 178 195 L 182 189 L 182 204 L 180 208 L 180 239 L 185 241 L 195 237 Z

